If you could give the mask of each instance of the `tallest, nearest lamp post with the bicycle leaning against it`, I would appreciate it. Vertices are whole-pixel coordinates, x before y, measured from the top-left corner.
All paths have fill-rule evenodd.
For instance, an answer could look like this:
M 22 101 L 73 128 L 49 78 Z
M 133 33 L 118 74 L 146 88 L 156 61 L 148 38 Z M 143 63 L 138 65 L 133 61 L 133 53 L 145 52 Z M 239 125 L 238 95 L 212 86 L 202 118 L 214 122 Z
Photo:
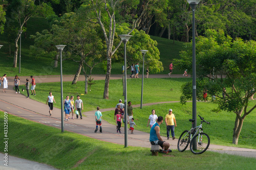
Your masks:
M 192 118 L 195 120 L 193 124 L 193 128 L 197 126 L 197 72 L 196 72 L 196 29 L 195 29 L 195 11 L 198 3 L 200 0 L 187 0 L 188 4 L 192 8 L 193 11 L 193 21 L 192 21 L 192 32 L 193 32 L 193 37 L 192 37 L 192 48 L 193 48 L 193 59 L 192 59 L 192 69 L 193 69 L 193 97 L 192 97 Z M 196 141 L 196 139 L 195 139 Z M 193 142 L 193 148 L 197 149 L 197 143 Z

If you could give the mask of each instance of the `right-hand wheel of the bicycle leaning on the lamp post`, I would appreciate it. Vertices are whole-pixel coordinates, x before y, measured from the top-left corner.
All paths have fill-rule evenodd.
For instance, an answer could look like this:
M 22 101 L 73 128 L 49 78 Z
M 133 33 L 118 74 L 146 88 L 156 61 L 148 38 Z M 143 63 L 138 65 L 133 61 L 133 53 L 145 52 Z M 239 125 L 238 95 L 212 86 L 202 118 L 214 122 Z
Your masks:
M 193 140 L 197 142 L 197 148 L 193 148 Z M 193 154 L 202 154 L 204 153 L 210 145 L 210 137 L 206 133 L 199 133 L 191 139 L 190 142 L 190 151 Z

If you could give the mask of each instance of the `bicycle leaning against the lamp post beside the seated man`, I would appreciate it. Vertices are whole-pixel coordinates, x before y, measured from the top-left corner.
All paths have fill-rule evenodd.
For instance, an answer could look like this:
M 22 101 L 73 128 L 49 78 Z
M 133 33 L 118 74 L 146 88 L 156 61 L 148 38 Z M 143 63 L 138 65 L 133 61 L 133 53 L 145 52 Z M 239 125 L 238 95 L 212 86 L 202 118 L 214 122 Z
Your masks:
M 210 137 L 206 133 L 203 133 L 202 124 L 206 123 L 207 125 L 210 125 L 210 123 L 205 121 L 204 118 L 201 117 L 200 115 L 198 115 L 198 116 L 202 120 L 201 125 L 193 128 L 193 124 L 194 124 L 195 120 L 189 119 L 189 122 L 192 123 L 191 129 L 189 131 L 185 130 L 180 135 L 180 138 L 178 140 L 178 150 L 180 152 L 185 151 L 187 149 L 189 143 L 190 143 L 190 151 L 193 154 L 202 154 L 208 149 L 209 144 L 210 144 Z M 196 149 L 193 148 L 193 141 L 197 142 Z

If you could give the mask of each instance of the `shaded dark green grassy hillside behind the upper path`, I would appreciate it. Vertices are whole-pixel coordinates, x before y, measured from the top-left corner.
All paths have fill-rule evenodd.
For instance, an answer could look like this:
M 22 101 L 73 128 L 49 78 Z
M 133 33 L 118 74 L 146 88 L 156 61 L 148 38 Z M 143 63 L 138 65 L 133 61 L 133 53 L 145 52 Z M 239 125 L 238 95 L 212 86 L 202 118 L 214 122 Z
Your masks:
M 21 50 L 21 70 L 18 74 L 19 62 L 17 67 L 13 68 L 13 55 L 14 55 L 14 39 L 10 45 L 8 44 L 7 31 L 3 35 L 0 35 L 0 44 L 4 45 L 0 50 L 0 70 L 1 74 L 7 74 L 7 76 L 30 76 L 30 75 L 59 75 L 60 68 L 53 67 L 54 60 L 48 56 L 35 58 L 29 55 L 30 45 L 34 44 L 33 39 L 30 39 L 30 35 L 34 35 L 36 32 L 41 32 L 44 29 L 49 29 L 49 23 L 42 17 L 32 17 L 27 24 L 27 38 L 25 39 L 24 33 L 22 33 L 22 50 Z M 169 64 L 174 58 L 179 58 L 179 52 L 182 49 L 183 42 L 168 40 L 156 36 L 151 36 L 152 39 L 158 42 L 158 48 L 160 51 L 160 61 L 163 62 L 164 71 L 159 74 L 167 74 L 169 72 Z M 19 41 L 18 41 L 19 45 Z M 57 44 L 56 44 L 57 45 Z M 63 56 L 64 57 L 64 56 Z M 18 51 L 19 61 L 19 51 Z M 59 64 L 58 64 L 59 65 Z M 70 60 L 64 60 L 62 63 L 64 75 L 74 75 L 77 70 L 78 63 Z M 121 74 L 121 67 L 123 63 L 113 61 L 112 74 Z M 175 66 L 175 63 L 174 63 Z M 130 71 L 130 70 L 129 70 Z M 174 70 L 174 74 L 183 74 L 183 70 Z M 105 74 L 101 64 L 98 64 L 93 69 L 93 74 Z

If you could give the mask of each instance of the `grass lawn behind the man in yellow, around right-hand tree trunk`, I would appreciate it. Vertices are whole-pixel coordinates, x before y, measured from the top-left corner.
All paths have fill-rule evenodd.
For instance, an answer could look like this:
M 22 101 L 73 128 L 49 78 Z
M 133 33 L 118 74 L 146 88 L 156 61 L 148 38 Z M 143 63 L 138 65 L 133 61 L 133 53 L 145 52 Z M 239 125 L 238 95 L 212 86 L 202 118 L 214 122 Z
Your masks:
M 252 101 L 249 107 L 253 107 L 256 104 Z M 212 102 L 197 102 L 197 114 L 204 117 L 204 119 L 210 122 L 210 126 L 203 124 L 203 130 L 210 136 L 211 144 L 227 145 L 232 147 L 241 148 L 251 148 L 256 149 L 256 114 L 255 110 L 246 116 L 243 124 L 242 131 L 240 133 L 238 145 L 232 144 L 232 133 L 234 128 L 234 120 L 236 119 L 236 114 L 233 112 L 221 111 L 219 113 L 212 112 L 212 109 L 216 109 L 217 104 Z M 184 130 L 189 130 L 191 128 L 191 123 L 188 121 L 192 118 L 192 103 L 187 103 L 186 105 L 181 105 L 180 103 L 168 103 L 168 104 L 157 104 L 153 106 L 144 106 L 142 109 L 134 108 L 134 118 L 135 123 L 138 127 L 136 130 L 143 132 L 150 132 L 150 127 L 147 126 L 148 116 L 152 113 L 152 109 L 156 110 L 157 116 L 163 116 L 168 114 L 169 109 L 173 109 L 173 114 L 175 114 L 177 127 L 175 128 L 175 136 L 179 138 Z M 114 109 L 112 111 L 103 112 L 102 118 L 109 123 L 115 125 L 113 115 Z M 200 118 L 197 117 L 197 125 L 200 125 Z M 123 126 L 123 125 L 122 125 Z M 165 124 L 160 126 L 161 135 L 166 136 L 166 126 Z

